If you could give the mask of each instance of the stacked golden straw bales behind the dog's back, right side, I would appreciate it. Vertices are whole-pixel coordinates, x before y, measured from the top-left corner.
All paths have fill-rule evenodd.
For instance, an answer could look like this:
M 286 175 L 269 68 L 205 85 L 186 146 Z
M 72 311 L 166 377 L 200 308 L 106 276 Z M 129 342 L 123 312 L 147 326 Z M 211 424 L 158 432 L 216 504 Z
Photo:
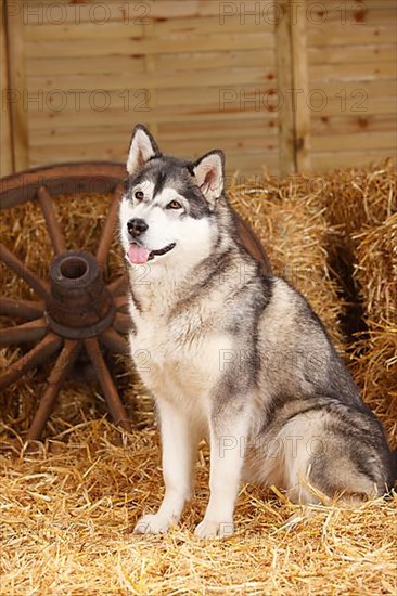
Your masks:
M 397 446 L 396 178 L 390 161 L 321 178 L 265 174 L 232 186 L 231 196 L 274 272 L 296 285 L 345 347 L 363 399 Z M 344 342 L 343 331 L 362 328 Z

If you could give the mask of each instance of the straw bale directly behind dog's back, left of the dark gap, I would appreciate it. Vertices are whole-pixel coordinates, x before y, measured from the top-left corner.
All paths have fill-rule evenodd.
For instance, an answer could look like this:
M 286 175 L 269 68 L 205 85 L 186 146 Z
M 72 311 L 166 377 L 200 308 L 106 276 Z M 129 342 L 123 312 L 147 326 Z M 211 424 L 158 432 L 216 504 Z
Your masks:
M 328 267 L 331 233 L 319 208 L 319 192 L 306 177 L 277 180 L 264 174 L 229 191 L 232 205 L 264 244 L 273 273 L 290 281 L 309 300 L 334 344 L 343 350 L 343 302 Z

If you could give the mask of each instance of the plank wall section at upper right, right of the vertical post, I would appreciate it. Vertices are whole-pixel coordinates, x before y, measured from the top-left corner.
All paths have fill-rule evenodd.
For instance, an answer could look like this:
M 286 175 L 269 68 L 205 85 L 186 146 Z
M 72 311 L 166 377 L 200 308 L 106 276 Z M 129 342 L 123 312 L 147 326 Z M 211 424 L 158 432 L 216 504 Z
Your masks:
M 320 4 L 307 23 L 310 167 L 396 159 L 397 3 Z

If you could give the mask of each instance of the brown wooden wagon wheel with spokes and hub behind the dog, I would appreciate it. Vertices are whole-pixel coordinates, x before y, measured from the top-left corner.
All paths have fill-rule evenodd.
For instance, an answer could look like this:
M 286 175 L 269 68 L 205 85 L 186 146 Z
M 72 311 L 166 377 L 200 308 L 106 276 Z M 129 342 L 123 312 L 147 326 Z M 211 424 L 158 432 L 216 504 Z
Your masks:
M 49 280 L 42 282 L 0 243 L 0 260 L 40 297 L 39 301 L 0 297 L 0 314 L 24 321 L 1 329 L 0 347 L 36 342 L 7 371 L 0 372 L 0 389 L 16 383 L 40 363 L 49 359 L 54 362 L 27 440 L 40 439 L 62 385 L 81 350 L 86 350 L 93 365 L 114 422 L 130 430 L 126 411 L 102 355 L 103 347 L 112 353 L 127 352 L 127 340 L 123 334 L 128 331 L 129 315 L 124 275 L 111 284 L 105 283 L 104 275 L 124 177 L 125 167 L 121 164 L 89 161 L 36 168 L 0 181 L 1 210 L 28 200 L 39 203 L 55 252 L 55 258 L 49 263 Z M 59 194 L 81 192 L 113 193 L 95 255 L 66 249 L 52 205 L 52 198 Z M 239 217 L 238 225 L 246 248 L 261 263 L 264 271 L 269 271 L 266 254 L 249 226 Z

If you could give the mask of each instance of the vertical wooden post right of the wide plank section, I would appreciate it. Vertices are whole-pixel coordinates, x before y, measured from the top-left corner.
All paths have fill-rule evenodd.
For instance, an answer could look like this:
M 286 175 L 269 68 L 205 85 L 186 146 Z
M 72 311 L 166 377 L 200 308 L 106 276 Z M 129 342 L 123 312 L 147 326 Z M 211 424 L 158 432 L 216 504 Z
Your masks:
M 310 169 L 310 112 L 306 53 L 306 7 L 278 0 L 276 53 L 282 107 L 279 112 L 280 174 Z

